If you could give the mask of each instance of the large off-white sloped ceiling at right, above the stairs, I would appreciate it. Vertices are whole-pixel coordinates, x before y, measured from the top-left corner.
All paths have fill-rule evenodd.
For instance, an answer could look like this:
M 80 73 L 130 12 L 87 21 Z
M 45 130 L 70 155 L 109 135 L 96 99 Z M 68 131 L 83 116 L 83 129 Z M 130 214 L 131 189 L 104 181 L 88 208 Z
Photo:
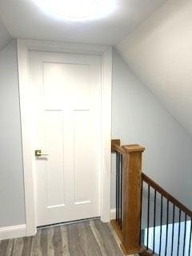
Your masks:
M 116 47 L 134 74 L 192 134 L 192 1 L 165 2 Z

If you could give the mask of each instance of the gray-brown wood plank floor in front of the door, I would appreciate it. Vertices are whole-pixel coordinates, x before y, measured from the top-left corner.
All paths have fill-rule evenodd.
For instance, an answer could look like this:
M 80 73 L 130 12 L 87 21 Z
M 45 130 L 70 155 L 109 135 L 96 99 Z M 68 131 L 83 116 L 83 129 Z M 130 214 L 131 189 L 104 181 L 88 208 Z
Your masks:
M 39 229 L 0 241 L 0 256 L 122 256 L 112 226 L 99 219 Z

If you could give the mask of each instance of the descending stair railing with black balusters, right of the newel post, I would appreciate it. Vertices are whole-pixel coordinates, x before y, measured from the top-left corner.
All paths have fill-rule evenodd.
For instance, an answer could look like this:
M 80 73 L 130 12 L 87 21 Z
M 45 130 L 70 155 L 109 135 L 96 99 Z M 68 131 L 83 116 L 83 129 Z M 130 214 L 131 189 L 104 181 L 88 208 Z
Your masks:
M 192 255 L 192 211 L 143 173 L 141 218 L 142 255 Z

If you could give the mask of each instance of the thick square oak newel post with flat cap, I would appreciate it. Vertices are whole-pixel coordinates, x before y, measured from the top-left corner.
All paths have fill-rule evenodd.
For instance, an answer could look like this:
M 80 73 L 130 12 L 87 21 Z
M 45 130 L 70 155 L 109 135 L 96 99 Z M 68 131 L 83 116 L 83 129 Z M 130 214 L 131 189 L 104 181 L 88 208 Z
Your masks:
M 138 253 L 140 247 L 140 214 L 142 186 L 142 152 L 139 145 L 122 146 L 123 154 L 123 223 L 122 250 Z

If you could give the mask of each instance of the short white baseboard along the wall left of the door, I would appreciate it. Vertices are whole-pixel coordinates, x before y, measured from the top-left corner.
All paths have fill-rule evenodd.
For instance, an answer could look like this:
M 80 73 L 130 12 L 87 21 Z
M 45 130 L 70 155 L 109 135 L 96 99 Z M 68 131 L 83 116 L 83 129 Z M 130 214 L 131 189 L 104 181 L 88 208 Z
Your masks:
M 26 224 L 0 227 L 0 240 L 26 236 Z

